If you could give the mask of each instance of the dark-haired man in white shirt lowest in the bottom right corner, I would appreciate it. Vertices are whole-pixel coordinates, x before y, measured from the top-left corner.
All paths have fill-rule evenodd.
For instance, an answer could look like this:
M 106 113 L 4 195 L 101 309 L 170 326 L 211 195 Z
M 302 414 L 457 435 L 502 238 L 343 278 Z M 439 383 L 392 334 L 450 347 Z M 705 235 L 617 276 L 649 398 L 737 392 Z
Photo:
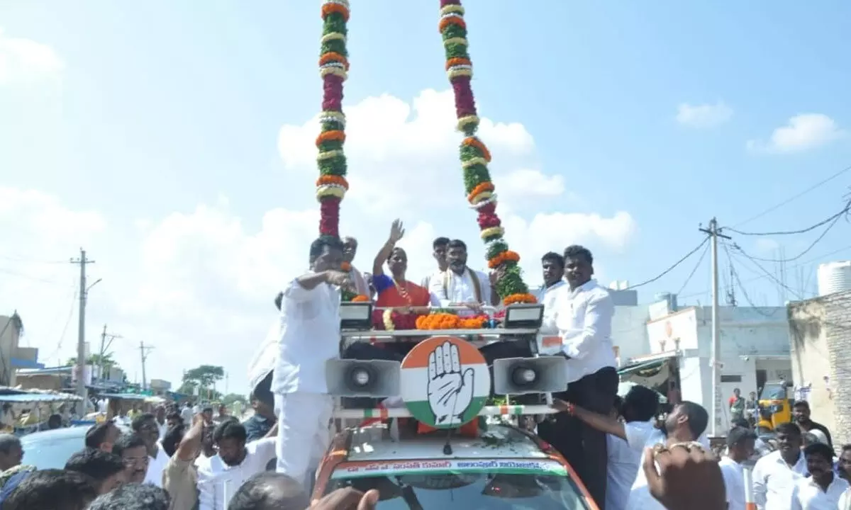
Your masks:
M 835 510 L 848 490 L 848 482 L 833 473 L 833 450 L 824 443 L 803 449 L 808 478 L 798 479 L 792 490 L 792 510 Z M 846 503 L 847 504 L 847 503 Z M 844 510 L 844 508 L 842 508 Z

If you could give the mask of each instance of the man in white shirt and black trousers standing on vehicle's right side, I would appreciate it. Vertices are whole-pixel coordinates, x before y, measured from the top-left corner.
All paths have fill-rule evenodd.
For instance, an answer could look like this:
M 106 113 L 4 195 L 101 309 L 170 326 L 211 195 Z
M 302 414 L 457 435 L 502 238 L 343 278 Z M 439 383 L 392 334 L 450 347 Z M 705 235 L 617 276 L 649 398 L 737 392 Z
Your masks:
M 562 337 L 562 354 L 568 359 L 568 390 L 559 399 L 589 411 L 608 415 L 618 391 L 618 372 L 612 348 L 614 302 L 608 290 L 592 280 L 594 258 L 584 246 L 564 250 L 564 276 L 568 286 L 557 291 L 554 321 Z M 557 413 L 538 425 L 538 434 L 574 467 L 597 506 L 606 500 L 608 453 L 606 434 L 567 413 Z

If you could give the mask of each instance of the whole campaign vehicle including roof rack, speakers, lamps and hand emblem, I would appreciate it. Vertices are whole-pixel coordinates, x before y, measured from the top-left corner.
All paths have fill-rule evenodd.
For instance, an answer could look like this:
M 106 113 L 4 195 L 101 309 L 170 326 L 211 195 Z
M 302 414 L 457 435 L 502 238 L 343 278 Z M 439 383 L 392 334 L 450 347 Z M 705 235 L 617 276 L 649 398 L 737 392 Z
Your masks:
M 328 392 L 398 402 L 338 405 L 315 498 L 351 485 L 379 490 L 380 509 L 597 508 L 568 462 L 511 421 L 556 412 L 551 392 L 567 388 L 565 358 L 545 355 L 560 338 L 540 334 L 542 305 L 514 304 L 499 319 L 488 310 L 489 327 L 476 329 L 376 330 L 373 312 L 369 302 L 342 304 L 341 351 L 405 340 L 409 351 L 402 361 L 329 360 Z M 530 355 L 486 361 L 479 348 L 500 342 L 525 343 Z M 504 405 L 488 405 L 492 388 Z M 511 403 L 521 395 L 536 403 Z

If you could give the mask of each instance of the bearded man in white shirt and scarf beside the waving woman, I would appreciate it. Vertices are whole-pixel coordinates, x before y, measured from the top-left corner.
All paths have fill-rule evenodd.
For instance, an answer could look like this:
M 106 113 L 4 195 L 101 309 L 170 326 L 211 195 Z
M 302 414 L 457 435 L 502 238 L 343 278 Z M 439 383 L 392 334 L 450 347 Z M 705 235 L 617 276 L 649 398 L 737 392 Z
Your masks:
M 499 303 L 499 295 L 494 291 L 490 277 L 467 267 L 467 245 L 464 241 L 449 241 L 446 260 L 448 270 L 429 282 L 431 306 L 466 306 L 475 312 L 483 305 Z

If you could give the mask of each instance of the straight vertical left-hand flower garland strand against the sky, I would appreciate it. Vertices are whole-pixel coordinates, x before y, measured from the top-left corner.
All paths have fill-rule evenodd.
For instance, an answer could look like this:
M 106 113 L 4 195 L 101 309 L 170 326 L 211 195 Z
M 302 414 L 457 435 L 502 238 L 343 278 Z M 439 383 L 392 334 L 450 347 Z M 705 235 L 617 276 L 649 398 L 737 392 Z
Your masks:
M 317 201 L 319 235 L 340 237 L 340 201 L 346 196 L 346 116 L 343 114 L 343 82 L 349 69 L 346 50 L 347 0 L 325 0 L 322 6 L 323 37 L 319 52 L 319 75 L 323 80 L 321 125 L 317 136 Z M 350 297 L 350 293 L 344 293 Z M 354 297 L 354 296 L 351 296 Z

